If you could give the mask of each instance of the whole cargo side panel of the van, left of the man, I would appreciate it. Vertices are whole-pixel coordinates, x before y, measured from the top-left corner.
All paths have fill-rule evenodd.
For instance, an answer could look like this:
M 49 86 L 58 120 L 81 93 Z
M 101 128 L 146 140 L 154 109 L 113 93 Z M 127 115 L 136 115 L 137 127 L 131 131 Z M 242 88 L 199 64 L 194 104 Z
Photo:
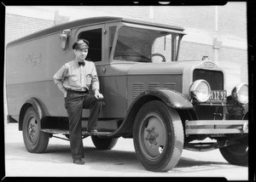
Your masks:
M 7 48 L 9 115 L 19 115 L 26 100 L 35 97 L 46 106 L 49 116 L 67 116 L 63 94 L 54 84 L 53 76 L 62 65 L 73 60 L 73 50 L 70 45 L 61 50 L 60 34 L 61 31 Z

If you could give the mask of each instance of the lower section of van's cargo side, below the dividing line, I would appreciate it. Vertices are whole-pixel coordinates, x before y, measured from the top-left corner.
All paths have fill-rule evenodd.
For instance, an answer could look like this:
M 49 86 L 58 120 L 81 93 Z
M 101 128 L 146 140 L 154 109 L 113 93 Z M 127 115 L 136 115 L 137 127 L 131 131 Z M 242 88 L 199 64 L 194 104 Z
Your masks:
M 52 80 L 11 84 L 7 86 L 7 90 L 9 115 L 19 115 L 26 100 L 37 98 L 44 105 L 46 116 L 67 116 L 63 94 Z

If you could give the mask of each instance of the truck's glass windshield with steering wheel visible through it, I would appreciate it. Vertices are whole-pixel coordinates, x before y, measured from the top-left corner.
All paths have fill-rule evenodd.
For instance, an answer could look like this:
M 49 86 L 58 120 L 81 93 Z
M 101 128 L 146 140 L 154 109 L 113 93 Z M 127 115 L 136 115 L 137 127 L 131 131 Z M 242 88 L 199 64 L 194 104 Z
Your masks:
M 178 34 L 171 32 L 123 26 L 119 29 L 113 60 L 172 61 L 177 54 L 178 39 Z

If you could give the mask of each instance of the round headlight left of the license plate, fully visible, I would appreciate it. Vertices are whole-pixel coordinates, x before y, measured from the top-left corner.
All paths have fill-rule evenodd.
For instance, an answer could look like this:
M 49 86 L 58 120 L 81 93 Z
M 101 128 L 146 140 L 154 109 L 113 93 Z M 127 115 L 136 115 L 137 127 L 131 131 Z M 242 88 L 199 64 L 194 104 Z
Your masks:
M 190 97 L 199 102 L 206 102 L 210 97 L 211 87 L 205 80 L 196 80 L 189 88 Z

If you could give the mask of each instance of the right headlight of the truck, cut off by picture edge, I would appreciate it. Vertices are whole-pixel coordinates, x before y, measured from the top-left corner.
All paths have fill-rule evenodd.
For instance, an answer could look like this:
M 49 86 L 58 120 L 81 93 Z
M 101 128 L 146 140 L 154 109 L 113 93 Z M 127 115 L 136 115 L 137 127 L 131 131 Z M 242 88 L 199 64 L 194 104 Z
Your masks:
M 248 85 L 244 82 L 236 85 L 235 88 L 232 89 L 232 97 L 242 105 L 247 104 L 248 102 Z

